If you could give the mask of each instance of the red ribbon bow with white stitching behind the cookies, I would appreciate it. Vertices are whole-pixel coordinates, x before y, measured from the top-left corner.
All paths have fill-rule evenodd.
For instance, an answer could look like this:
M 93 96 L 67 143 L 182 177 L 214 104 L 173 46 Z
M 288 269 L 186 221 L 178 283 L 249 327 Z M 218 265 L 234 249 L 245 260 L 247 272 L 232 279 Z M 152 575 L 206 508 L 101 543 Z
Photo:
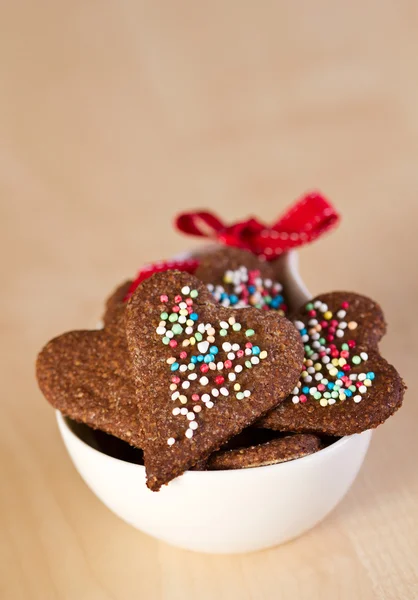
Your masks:
M 283 252 L 313 242 L 335 227 L 339 219 L 332 204 L 313 192 L 298 200 L 271 226 L 254 218 L 227 225 L 207 211 L 181 213 L 175 223 L 188 235 L 217 240 L 274 260 Z

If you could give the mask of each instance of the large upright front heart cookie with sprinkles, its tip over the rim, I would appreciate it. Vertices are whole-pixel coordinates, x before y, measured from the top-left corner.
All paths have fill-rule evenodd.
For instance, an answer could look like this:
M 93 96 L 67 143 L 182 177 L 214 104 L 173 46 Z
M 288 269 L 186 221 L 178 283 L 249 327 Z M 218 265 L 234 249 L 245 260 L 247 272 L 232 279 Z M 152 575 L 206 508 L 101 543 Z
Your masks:
M 125 317 L 152 490 L 206 459 L 298 381 L 303 345 L 290 321 L 221 307 L 188 273 L 144 281 Z

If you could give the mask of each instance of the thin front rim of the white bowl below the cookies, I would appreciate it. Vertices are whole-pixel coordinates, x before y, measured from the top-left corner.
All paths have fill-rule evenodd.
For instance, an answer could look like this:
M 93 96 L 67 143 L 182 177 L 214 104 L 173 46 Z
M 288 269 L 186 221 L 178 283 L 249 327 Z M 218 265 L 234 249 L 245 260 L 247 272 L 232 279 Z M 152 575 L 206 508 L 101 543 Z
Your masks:
M 127 468 L 132 468 L 135 470 L 140 470 L 140 471 L 145 471 L 145 466 L 144 465 L 139 465 L 137 463 L 131 463 L 129 461 L 123 460 L 121 458 L 116 458 L 115 456 L 110 456 L 109 454 L 105 454 L 104 452 L 101 452 L 100 450 L 97 450 L 97 448 L 94 448 L 93 446 L 91 446 L 88 442 L 86 442 L 85 440 L 83 440 L 81 437 L 79 437 L 74 431 L 72 431 L 72 429 L 69 427 L 67 419 L 68 417 L 64 416 L 59 410 L 55 411 L 56 413 L 56 419 L 58 422 L 58 428 L 60 430 L 60 433 L 62 436 L 64 436 L 64 430 L 66 432 L 66 434 L 68 436 L 70 436 L 71 438 L 77 440 L 78 443 L 80 443 L 85 449 L 88 449 L 88 451 L 92 452 L 93 454 L 96 455 L 100 455 L 105 457 L 105 460 L 109 460 L 110 462 L 114 462 L 115 464 L 124 464 L 127 465 Z M 286 469 L 296 469 L 298 468 L 298 465 L 300 467 L 300 465 L 303 465 L 303 467 L 305 467 L 306 465 L 308 465 L 309 462 L 314 462 L 314 461 L 318 461 L 321 459 L 324 459 L 325 457 L 327 457 L 328 455 L 332 454 L 333 452 L 338 452 L 342 447 L 350 444 L 350 442 L 354 441 L 354 439 L 358 439 L 359 436 L 364 436 L 364 437 L 371 437 L 372 435 L 372 430 L 368 429 L 366 431 L 362 431 L 361 433 L 354 433 L 352 435 L 345 435 L 343 437 L 341 437 L 339 440 L 337 440 L 336 442 L 333 442 L 332 444 L 330 444 L 329 446 L 327 446 L 326 448 L 322 448 L 321 450 L 318 450 L 317 452 L 314 452 L 312 454 L 308 454 L 307 456 L 303 456 L 301 458 L 297 458 L 294 460 L 289 460 L 286 462 L 281 462 L 281 463 L 276 463 L 276 464 L 272 464 L 272 465 L 261 465 L 259 467 L 250 467 L 247 469 L 219 469 L 219 470 L 213 470 L 213 471 L 185 471 L 181 477 L 185 477 L 187 476 L 187 478 L 191 478 L 193 477 L 194 479 L 198 479 L 201 477 L 225 477 L 226 474 L 228 475 L 228 477 L 243 477 L 243 476 L 251 476 L 251 472 L 255 473 L 255 472 L 260 472 L 260 469 L 263 470 L 263 472 L 266 472 L 266 469 L 270 469 L 270 470 L 277 470 L 277 469 L 281 469 L 282 472 L 285 471 Z M 246 475 L 245 475 L 246 474 Z M 176 481 L 179 478 L 176 478 L 173 481 Z

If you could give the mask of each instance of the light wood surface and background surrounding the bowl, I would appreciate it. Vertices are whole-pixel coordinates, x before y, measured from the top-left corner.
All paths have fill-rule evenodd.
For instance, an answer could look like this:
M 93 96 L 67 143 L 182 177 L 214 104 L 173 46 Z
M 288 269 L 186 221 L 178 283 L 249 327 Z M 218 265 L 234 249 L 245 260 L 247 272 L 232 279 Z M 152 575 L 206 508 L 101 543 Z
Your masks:
M 0 2 L 2 599 L 418 598 L 417 25 L 413 0 Z M 168 547 L 82 483 L 36 352 L 189 244 L 176 211 L 271 220 L 312 188 L 344 220 L 302 274 L 381 301 L 405 405 L 304 537 Z

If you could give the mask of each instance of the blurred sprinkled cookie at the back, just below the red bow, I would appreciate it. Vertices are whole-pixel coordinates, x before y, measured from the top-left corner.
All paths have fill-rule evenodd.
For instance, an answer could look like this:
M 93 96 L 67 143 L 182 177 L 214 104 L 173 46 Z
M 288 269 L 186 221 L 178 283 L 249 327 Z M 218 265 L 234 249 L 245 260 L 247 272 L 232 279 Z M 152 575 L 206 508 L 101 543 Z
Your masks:
M 201 257 L 196 277 L 205 282 L 222 306 L 253 306 L 287 311 L 283 286 L 275 280 L 272 266 L 254 254 L 238 248 L 220 248 Z

